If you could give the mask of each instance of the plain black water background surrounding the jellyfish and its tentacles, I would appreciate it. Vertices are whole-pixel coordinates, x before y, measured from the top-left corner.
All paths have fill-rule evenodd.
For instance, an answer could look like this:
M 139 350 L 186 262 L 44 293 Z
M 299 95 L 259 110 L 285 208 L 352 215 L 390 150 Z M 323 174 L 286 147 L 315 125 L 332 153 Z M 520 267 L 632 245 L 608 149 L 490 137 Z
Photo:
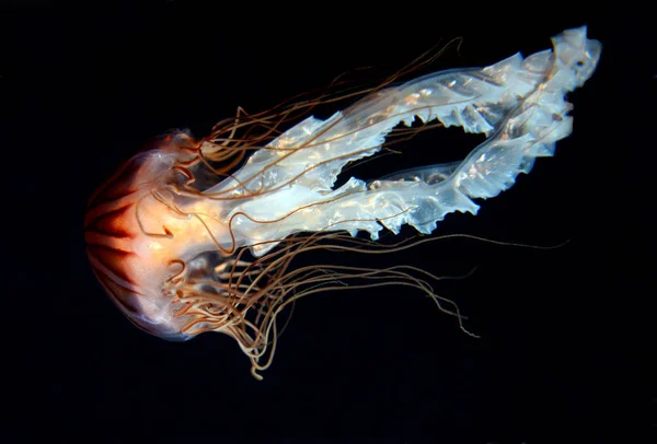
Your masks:
M 647 11 L 566 7 L 4 3 L 7 442 L 650 442 L 655 39 Z M 413 292 L 322 294 L 297 304 L 257 382 L 228 337 L 149 337 L 95 281 L 85 201 L 152 137 L 204 136 L 238 105 L 263 110 L 359 67 L 376 83 L 456 37 L 460 50 L 418 74 L 528 55 L 583 24 L 604 47 L 570 95 L 573 135 L 435 233 L 569 242 L 452 239 L 370 264 L 476 267 L 437 290 L 481 339 Z M 480 141 L 437 130 L 349 174 L 457 160 Z

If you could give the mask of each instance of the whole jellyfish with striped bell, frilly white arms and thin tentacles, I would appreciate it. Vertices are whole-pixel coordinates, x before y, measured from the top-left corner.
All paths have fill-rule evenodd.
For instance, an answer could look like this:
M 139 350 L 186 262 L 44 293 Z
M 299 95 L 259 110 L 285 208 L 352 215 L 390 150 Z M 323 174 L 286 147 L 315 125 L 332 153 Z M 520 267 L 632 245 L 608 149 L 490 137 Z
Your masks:
M 435 277 L 419 268 L 295 267 L 293 259 L 320 249 L 410 247 L 377 241 L 382 230 L 399 234 L 408 224 L 429 235 L 448 213 L 475 214 L 473 199 L 497 196 L 537 157 L 552 156 L 555 142 L 573 130 L 566 94 L 590 78 L 601 51 L 586 27 L 552 43 L 553 49 L 483 69 L 383 83 L 326 120 L 310 115 L 318 103 L 332 102 L 323 97 L 261 114 L 240 109 L 200 140 L 186 131 L 161 137 L 90 199 L 84 237 L 95 276 L 149 334 L 232 337 L 258 378 L 273 360 L 278 315 L 313 293 L 350 283 L 402 285 L 460 318 L 434 293 Z M 291 125 L 298 116 L 306 118 Z M 486 139 L 460 162 L 335 186 L 346 165 L 381 152 L 395 127 L 410 128 L 416 118 Z

